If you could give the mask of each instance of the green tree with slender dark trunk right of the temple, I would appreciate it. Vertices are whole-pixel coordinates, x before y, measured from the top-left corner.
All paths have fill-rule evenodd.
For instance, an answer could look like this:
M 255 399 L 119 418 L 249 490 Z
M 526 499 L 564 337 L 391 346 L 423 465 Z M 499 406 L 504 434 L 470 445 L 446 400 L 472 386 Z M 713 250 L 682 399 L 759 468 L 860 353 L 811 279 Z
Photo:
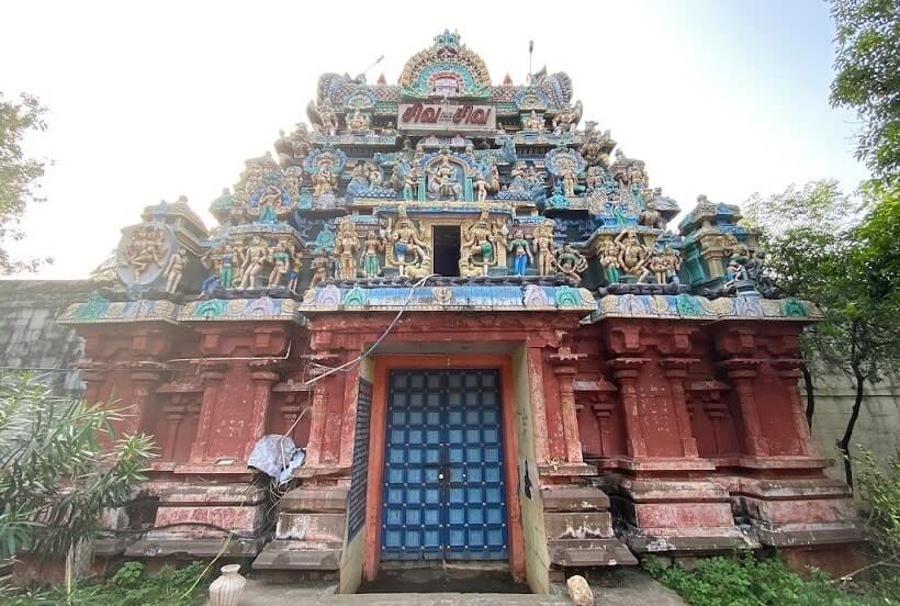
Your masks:
M 781 292 L 815 302 L 824 314 L 801 339 L 803 357 L 841 369 L 853 382 L 854 403 L 837 445 L 851 486 L 850 447 L 866 383 L 880 381 L 900 360 L 900 240 L 891 239 L 900 236 L 900 204 L 885 191 L 873 184 L 867 204 L 856 205 L 834 181 L 819 181 L 755 197 L 746 206 Z M 863 215 L 865 206 L 871 211 Z M 810 418 L 809 405 L 807 413 Z

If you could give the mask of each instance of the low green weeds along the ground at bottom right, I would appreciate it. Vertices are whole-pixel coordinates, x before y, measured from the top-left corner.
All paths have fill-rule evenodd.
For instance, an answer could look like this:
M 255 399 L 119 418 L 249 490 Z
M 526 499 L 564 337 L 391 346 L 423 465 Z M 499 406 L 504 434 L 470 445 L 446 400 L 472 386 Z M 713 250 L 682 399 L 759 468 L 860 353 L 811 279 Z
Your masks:
M 791 572 L 778 559 L 708 558 L 693 571 L 663 568 L 648 557 L 641 565 L 654 579 L 694 606 L 864 606 L 866 597 L 851 595 L 821 572 L 810 579 Z M 890 604 L 889 602 L 882 604 Z

